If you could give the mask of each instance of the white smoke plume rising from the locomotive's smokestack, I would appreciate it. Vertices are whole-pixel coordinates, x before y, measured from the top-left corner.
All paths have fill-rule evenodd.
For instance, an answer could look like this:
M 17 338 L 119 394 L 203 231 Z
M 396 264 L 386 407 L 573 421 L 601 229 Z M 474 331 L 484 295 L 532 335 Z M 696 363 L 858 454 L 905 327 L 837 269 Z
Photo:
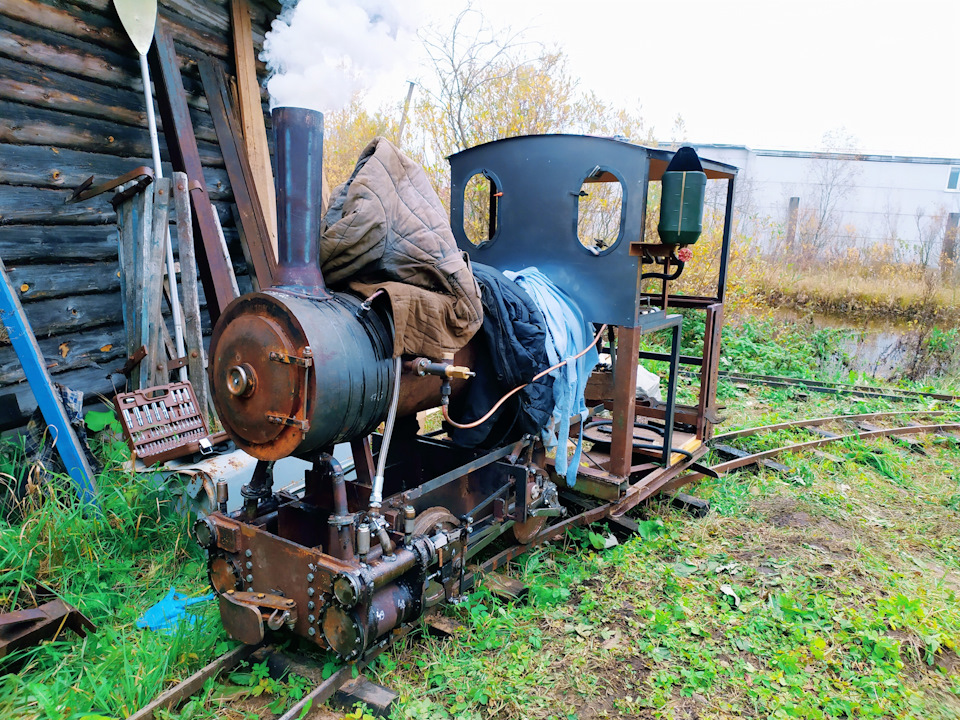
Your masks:
M 403 0 L 300 0 L 273 21 L 260 59 L 271 107 L 321 112 L 347 105 L 410 54 L 416 30 Z

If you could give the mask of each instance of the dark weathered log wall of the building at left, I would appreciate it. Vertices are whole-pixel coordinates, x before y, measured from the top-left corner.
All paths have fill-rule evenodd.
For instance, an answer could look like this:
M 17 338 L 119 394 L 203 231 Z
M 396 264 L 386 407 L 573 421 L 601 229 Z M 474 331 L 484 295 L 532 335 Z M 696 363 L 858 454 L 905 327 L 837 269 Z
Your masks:
M 277 0 L 251 0 L 257 53 L 279 11 Z M 160 22 L 174 38 L 207 191 L 243 292 L 250 283 L 233 195 L 196 64 L 216 57 L 235 72 L 229 0 L 160 0 Z M 258 73 L 262 82 L 262 63 Z M 162 129 L 160 152 L 169 176 Z M 140 165 L 152 165 L 140 67 L 111 0 L 3 0 L 0 257 L 54 380 L 88 399 L 112 395 L 123 381 L 108 376 L 124 362 L 116 216 L 109 194 L 64 200 L 91 175 L 99 183 Z M 176 251 L 175 225 L 171 232 Z M 35 407 L 0 333 L 0 430 L 22 424 Z

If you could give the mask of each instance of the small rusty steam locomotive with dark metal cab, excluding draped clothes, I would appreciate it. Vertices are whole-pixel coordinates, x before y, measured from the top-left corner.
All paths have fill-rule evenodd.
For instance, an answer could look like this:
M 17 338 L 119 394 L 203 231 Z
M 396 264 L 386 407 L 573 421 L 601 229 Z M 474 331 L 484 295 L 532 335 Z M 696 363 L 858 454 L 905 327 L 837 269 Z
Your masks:
M 599 330 L 593 342 L 611 356 L 586 382 L 586 418 L 569 419 L 571 437 L 590 449 L 561 475 L 557 455 L 566 448 L 555 455 L 539 432 L 511 430 L 509 402 L 500 409 L 505 431 L 475 446 L 455 442 L 451 430 L 465 424 L 454 409 L 464 409 L 477 374 L 489 372 L 479 334 L 454 356 L 398 354 L 389 303 L 328 287 L 320 262 L 323 117 L 278 108 L 273 120 L 277 273 L 272 287 L 224 310 L 209 365 L 224 428 L 258 463 L 243 507 L 227 513 L 224 502 L 195 528 L 231 636 L 258 643 L 267 631 L 287 631 L 357 659 L 430 606 L 461 597 L 477 572 L 572 525 L 622 515 L 679 487 L 685 471 L 704 470 L 697 461 L 716 421 L 734 168 L 692 150 L 573 135 L 512 138 L 450 158 L 450 220 L 461 250 L 499 270 L 536 266 L 576 301 Z M 678 165 L 684 158 L 695 167 Z M 711 180 L 726 189 L 717 291 L 673 295 L 670 282 L 684 267 L 677 250 L 699 234 Z M 478 181 L 479 239 L 465 229 L 464 210 Z M 619 231 L 591 244 L 578 237 L 581 204 L 611 183 Z M 660 183 L 654 242 L 645 239 L 647 204 Z M 671 308 L 706 314 L 699 355 L 680 355 L 682 318 Z M 669 351 L 641 353 L 641 336 L 658 330 L 669 335 Z M 662 402 L 637 395 L 641 357 L 667 367 Z M 680 364 L 699 369 L 696 405 L 676 403 Z M 426 432 L 416 414 L 436 407 L 447 422 Z M 488 409 L 469 408 L 476 418 Z M 355 477 L 334 458 L 338 443 L 350 444 Z M 293 480 L 273 476 L 274 462 L 291 455 L 312 463 L 298 493 L 274 489 Z M 490 556 L 497 540 L 502 549 Z

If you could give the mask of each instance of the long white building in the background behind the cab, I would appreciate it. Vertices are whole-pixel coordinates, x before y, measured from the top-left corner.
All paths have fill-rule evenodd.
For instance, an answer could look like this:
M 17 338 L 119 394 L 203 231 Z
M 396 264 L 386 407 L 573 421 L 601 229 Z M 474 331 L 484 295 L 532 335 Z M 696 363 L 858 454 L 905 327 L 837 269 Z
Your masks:
M 846 252 L 887 244 L 906 261 L 936 265 L 941 253 L 957 258 L 958 158 L 694 147 L 741 169 L 739 229 L 771 250 Z

